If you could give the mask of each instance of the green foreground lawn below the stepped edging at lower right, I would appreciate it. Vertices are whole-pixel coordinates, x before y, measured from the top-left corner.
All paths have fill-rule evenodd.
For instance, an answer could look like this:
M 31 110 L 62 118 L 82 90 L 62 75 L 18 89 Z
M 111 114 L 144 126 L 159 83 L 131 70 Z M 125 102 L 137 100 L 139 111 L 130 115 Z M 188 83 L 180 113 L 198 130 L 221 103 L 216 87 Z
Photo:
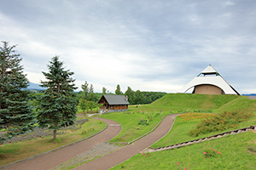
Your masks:
M 211 149 L 221 155 L 206 158 L 203 153 Z M 238 133 L 179 149 L 153 152 L 150 156 L 137 154 L 111 169 L 254 169 L 255 151 L 255 133 Z

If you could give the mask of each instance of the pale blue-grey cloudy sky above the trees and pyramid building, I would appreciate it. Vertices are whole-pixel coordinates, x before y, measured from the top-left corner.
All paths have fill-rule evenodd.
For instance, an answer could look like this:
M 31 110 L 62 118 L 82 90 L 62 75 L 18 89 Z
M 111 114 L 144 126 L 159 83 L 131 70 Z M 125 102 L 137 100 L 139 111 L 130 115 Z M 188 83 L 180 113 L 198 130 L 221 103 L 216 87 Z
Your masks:
M 30 82 L 61 61 L 95 92 L 175 93 L 211 64 L 256 94 L 255 0 L 0 0 L 0 40 Z M 3 46 L 3 43 L 1 44 Z

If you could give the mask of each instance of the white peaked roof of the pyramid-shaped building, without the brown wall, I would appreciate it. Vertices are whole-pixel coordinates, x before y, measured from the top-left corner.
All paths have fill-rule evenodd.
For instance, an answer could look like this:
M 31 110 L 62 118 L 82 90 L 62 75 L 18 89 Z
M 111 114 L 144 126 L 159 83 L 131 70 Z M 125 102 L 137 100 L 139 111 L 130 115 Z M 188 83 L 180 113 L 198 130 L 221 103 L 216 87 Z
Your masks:
M 200 77 L 200 75 L 203 74 L 204 77 Z M 221 77 L 215 69 L 213 69 L 212 65 L 207 66 L 207 68 L 203 71 L 201 71 L 201 74 L 198 75 L 198 77 L 195 77 L 193 80 L 191 80 L 186 86 L 184 86 L 182 89 L 180 89 L 177 93 L 178 94 L 184 94 L 186 93 L 190 88 L 194 88 L 198 85 L 203 84 L 210 84 L 217 86 L 218 88 L 221 88 L 224 91 L 224 94 L 239 94 L 235 88 L 230 86 L 229 82 L 225 81 L 223 77 Z M 215 74 L 213 77 L 207 77 L 207 75 Z

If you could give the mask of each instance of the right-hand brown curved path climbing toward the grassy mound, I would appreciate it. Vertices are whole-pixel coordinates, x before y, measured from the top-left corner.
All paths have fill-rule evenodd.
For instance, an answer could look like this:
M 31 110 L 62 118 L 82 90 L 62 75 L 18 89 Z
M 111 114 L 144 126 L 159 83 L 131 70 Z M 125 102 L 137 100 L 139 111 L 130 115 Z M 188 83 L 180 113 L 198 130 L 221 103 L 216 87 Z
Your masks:
M 109 169 L 118 165 L 119 163 L 131 158 L 138 154 L 140 151 L 145 150 L 151 144 L 154 144 L 156 141 L 161 139 L 169 132 L 172 127 L 173 121 L 178 114 L 166 116 L 163 121 L 160 123 L 160 126 L 157 127 L 152 133 L 149 133 L 143 139 L 137 140 L 135 143 L 127 145 L 120 150 L 116 150 L 107 156 L 102 156 L 94 161 L 85 163 L 80 167 L 75 167 L 75 170 L 88 169 L 88 170 L 103 170 Z

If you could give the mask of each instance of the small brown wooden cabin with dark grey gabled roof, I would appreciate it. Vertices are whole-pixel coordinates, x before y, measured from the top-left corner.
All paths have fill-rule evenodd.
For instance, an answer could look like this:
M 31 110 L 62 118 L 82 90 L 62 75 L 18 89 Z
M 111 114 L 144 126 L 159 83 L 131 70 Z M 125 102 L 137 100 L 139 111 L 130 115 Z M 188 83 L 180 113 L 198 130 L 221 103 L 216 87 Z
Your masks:
M 103 94 L 101 99 L 98 101 L 100 105 L 99 113 L 127 111 L 128 110 L 128 97 L 124 95 L 108 95 Z

